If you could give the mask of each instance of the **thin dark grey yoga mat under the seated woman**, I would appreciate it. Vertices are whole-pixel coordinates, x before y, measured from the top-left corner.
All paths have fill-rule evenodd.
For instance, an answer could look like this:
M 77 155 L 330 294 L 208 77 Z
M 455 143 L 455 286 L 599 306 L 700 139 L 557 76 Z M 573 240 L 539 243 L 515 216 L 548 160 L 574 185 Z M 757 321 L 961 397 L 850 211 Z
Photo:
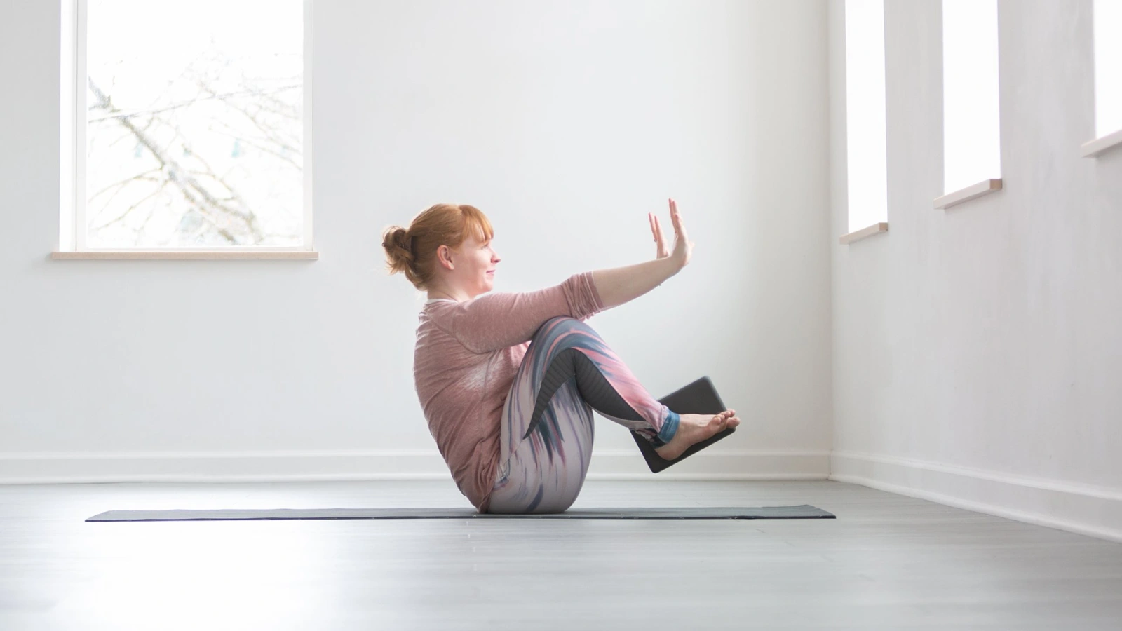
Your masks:
M 277 519 L 835 519 L 831 513 L 799 506 L 585 509 L 540 515 L 480 514 L 475 509 L 214 509 L 105 511 L 85 521 L 211 521 Z

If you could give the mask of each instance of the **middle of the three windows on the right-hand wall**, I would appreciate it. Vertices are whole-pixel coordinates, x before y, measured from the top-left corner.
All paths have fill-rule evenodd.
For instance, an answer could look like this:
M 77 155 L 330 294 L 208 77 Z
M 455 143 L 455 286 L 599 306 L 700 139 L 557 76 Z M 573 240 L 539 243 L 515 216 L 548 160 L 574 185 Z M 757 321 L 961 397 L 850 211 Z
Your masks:
M 1001 189 L 997 0 L 942 0 L 944 191 L 936 208 Z

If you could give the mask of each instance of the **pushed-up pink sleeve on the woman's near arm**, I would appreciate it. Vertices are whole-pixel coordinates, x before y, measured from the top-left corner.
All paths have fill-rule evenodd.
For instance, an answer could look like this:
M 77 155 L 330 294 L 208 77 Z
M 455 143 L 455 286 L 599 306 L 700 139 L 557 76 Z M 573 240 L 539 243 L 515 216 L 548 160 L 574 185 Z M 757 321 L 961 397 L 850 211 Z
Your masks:
M 578 320 L 604 310 L 592 273 L 570 276 L 552 287 L 523 293 L 487 293 L 444 310 L 436 323 L 472 353 L 530 341 L 549 319 Z

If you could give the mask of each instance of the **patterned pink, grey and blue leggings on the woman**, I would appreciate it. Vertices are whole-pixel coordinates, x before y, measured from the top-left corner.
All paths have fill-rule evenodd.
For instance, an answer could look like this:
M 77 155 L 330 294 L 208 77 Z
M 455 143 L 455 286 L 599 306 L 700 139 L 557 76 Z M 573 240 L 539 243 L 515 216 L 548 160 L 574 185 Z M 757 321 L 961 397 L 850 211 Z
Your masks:
M 640 385 L 599 333 L 574 318 L 548 320 L 530 342 L 503 408 L 490 513 L 560 513 L 592 457 L 592 410 L 660 447 L 679 417 Z

